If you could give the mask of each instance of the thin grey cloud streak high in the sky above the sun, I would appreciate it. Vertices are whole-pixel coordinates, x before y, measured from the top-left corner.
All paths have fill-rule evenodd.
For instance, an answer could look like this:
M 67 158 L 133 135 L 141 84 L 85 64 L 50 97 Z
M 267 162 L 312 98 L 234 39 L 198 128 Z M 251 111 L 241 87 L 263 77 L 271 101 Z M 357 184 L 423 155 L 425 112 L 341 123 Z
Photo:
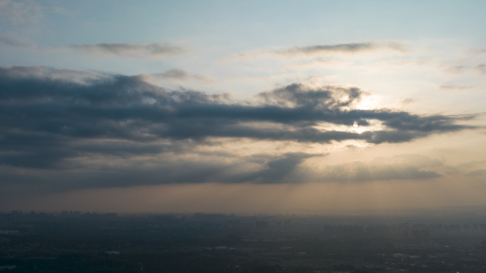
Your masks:
M 282 55 L 295 55 L 295 54 L 316 54 L 325 52 L 343 52 L 343 53 L 357 53 L 367 52 L 372 50 L 396 50 L 404 51 L 403 45 L 396 42 L 370 42 L 370 43 L 342 43 L 338 45 L 310 45 L 306 47 L 294 47 L 288 50 L 276 51 L 276 53 Z

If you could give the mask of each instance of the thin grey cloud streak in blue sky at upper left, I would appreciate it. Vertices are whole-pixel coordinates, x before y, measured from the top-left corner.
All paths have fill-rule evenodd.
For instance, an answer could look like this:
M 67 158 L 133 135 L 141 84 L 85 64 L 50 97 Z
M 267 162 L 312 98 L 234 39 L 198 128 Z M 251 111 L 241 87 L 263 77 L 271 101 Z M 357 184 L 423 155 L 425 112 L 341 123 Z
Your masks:
M 88 56 L 112 55 L 119 57 L 167 57 L 181 55 L 186 52 L 168 43 L 98 43 L 88 45 L 68 45 L 60 48 L 63 50 L 75 50 Z

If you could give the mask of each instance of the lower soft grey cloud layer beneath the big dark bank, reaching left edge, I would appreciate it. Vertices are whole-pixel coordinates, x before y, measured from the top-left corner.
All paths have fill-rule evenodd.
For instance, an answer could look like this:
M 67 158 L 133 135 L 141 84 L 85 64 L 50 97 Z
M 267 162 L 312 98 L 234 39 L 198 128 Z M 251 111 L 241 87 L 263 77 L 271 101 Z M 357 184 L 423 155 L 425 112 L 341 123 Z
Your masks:
M 126 144 L 126 143 L 124 143 Z M 103 147 L 100 146 L 103 149 Z M 202 157 L 193 160 L 181 160 L 173 153 L 170 147 L 156 147 L 150 150 L 134 150 L 133 147 L 121 148 L 109 147 L 103 152 L 109 155 L 123 157 L 125 152 L 130 155 L 154 155 L 158 152 L 163 157 L 152 157 L 143 162 L 116 164 L 107 160 L 117 157 L 107 157 L 104 163 L 77 165 L 69 169 L 26 169 L 16 167 L 0 167 L 0 187 L 20 186 L 23 189 L 35 191 L 65 191 L 71 189 L 120 187 L 151 184 L 181 184 L 181 183 L 303 183 L 308 181 L 310 171 L 301 167 L 301 163 L 309 157 L 323 156 L 311 155 L 302 152 L 286 153 L 284 155 L 253 155 L 251 157 L 239 157 L 234 162 L 228 162 L 225 158 Z M 164 150 L 165 149 L 165 150 Z M 128 151 L 127 151 L 128 150 Z M 95 160 L 94 154 L 89 155 L 90 160 Z M 181 151 L 178 151 L 181 152 Z M 187 152 L 187 150 L 185 150 Z M 255 160 L 255 157 L 260 157 Z M 211 158 L 211 160 L 208 160 Z M 131 157 L 130 160 L 134 160 Z M 102 167 L 99 167 L 102 165 Z M 9 171 L 10 169 L 10 171 Z M 0 195 L 1 196 L 1 195 Z

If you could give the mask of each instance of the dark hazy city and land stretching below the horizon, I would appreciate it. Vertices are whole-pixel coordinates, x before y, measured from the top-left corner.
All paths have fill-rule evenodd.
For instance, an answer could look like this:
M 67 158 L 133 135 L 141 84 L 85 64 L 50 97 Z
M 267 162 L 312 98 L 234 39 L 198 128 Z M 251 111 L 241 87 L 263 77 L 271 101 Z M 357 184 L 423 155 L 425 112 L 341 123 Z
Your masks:
M 11 211 L 0 213 L 0 270 L 486 272 L 486 218 L 438 214 Z

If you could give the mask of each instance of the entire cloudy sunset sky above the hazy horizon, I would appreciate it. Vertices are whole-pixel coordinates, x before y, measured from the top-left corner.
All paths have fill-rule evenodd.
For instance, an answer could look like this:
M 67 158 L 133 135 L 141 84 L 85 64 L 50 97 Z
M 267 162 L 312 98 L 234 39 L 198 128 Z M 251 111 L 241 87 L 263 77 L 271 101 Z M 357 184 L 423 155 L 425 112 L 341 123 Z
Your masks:
M 0 208 L 486 206 L 485 9 L 0 0 Z

